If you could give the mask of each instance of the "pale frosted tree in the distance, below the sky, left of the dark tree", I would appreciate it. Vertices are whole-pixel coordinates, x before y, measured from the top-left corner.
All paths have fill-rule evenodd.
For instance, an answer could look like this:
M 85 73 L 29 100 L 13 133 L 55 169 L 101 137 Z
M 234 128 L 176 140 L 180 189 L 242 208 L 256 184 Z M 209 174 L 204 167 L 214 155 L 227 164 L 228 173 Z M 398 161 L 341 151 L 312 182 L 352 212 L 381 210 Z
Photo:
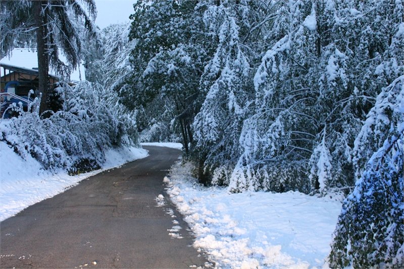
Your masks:
M 129 62 L 130 53 L 136 40 L 129 40 L 130 24 L 112 24 L 96 32 L 96 40 L 86 43 L 86 78 L 101 92 L 109 109 L 114 110 L 121 127 L 126 130 L 124 137 L 128 144 L 136 144 L 137 111 L 124 106 L 119 96 L 122 91 L 133 88 L 128 80 L 133 72 Z

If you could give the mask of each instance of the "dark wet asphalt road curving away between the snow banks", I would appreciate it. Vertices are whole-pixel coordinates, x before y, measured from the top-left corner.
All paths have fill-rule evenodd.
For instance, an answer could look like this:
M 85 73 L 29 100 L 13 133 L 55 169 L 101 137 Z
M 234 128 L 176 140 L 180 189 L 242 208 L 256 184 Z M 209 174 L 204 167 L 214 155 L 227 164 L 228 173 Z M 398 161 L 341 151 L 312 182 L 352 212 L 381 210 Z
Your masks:
M 189 268 L 207 261 L 174 206 L 157 207 L 163 178 L 180 156 L 144 147 L 149 156 L 100 173 L 0 223 L 0 267 Z M 167 199 L 166 199 L 167 201 Z M 172 208 L 182 239 L 168 229 Z M 95 264 L 96 263 L 96 264 Z

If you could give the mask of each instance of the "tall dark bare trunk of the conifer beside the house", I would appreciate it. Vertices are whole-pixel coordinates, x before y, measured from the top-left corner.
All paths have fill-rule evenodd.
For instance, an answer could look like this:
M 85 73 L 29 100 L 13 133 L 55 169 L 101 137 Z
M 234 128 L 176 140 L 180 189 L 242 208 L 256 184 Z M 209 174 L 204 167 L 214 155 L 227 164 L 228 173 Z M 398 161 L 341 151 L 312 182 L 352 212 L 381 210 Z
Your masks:
M 37 44 L 37 57 L 38 57 L 38 90 L 42 94 L 39 113 L 42 114 L 47 110 L 47 77 L 48 77 L 48 61 L 46 54 L 46 41 L 45 41 L 45 25 L 42 11 L 42 1 L 33 1 L 33 12 L 35 18 L 36 29 L 36 44 Z

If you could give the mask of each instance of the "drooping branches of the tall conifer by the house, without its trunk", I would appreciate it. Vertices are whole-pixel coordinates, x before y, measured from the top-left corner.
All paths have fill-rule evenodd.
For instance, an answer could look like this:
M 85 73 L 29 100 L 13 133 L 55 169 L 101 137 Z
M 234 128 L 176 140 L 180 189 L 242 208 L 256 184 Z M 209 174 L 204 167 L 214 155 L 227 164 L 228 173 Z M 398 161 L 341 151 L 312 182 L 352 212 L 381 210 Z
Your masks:
M 0 58 L 9 56 L 14 47 L 28 45 L 36 47 L 35 2 L 40 3 L 44 40 L 49 66 L 62 77 L 70 76 L 76 69 L 82 50 L 83 36 L 92 36 L 96 17 L 95 4 L 90 0 L 80 1 L 2 1 L 0 27 L 2 46 Z M 80 27 L 85 31 L 79 31 Z M 59 53 L 66 55 L 67 63 L 59 59 Z

